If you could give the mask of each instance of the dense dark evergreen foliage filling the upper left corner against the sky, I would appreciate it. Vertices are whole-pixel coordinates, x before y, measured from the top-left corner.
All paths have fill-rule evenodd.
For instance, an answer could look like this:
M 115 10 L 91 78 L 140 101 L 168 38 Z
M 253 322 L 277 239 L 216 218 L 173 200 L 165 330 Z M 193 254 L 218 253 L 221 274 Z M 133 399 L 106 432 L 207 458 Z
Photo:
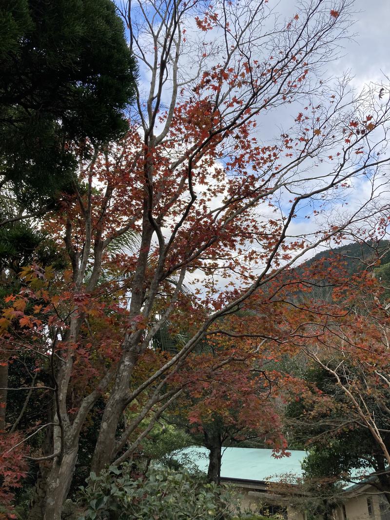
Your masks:
M 0 70 L 0 186 L 36 210 L 71 184 L 74 147 L 125 131 L 135 60 L 111 0 L 2 0 Z

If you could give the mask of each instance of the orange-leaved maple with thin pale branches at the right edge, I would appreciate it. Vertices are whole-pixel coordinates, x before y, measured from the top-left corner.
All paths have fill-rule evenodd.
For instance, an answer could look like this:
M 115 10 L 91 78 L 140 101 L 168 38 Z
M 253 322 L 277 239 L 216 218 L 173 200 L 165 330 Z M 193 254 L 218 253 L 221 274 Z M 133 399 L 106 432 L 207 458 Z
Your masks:
M 381 303 L 383 289 L 372 272 L 365 271 L 346 285 L 343 304 L 346 309 L 349 306 L 347 316 L 329 323 L 320 343 L 309 343 L 304 351 L 337 388 L 334 407 L 344 419 L 339 426 L 334 425 L 334 437 L 343 440 L 346 427 L 352 438 L 357 435 L 354 430 L 362 430 L 357 451 L 364 452 L 369 446 L 371 453 L 368 458 L 362 456 L 368 461 L 363 467 L 378 472 L 375 486 L 385 491 L 389 500 L 388 308 Z

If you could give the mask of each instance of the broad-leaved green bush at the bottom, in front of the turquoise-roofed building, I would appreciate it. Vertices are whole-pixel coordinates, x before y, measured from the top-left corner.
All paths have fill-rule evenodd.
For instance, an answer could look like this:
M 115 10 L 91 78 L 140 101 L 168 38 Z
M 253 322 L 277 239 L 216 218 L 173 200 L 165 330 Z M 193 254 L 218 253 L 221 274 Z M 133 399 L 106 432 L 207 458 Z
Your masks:
M 99 476 L 91 474 L 81 490 L 86 510 L 80 520 L 222 520 L 237 508 L 226 487 L 167 467 L 134 480 L 127 466 L 111 466 Z

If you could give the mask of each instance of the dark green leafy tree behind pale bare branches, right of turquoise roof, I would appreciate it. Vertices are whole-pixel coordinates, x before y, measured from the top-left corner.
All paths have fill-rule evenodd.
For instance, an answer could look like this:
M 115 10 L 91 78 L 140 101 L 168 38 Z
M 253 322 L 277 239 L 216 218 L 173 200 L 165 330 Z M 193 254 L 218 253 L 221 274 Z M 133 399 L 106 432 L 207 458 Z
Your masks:
M 309 366 L 305 377 L 317 388 L 311 398 L 289 406 L 287 427 L 295 446 L 308 449 L 305 460 L 305 480 L 310 487 L 321 487 L 320 495 L 328 497 L 327 505 L 340 498 L 342 484 L 355 485 L 362 492 L 367 477 L 378 495 L 387 499 L 389 491 L 386 459 L 367 426 L 362 423 L 343 389 L 332 375 L 318 367 Z M 375 393 L 375 387 L 372 388 Z M 376 424 L 388 446 L 386 418 L 374 400 L 368 401 L 372 411 L 378 412 Z M 360 488 L 360 489 L 359 489 Z

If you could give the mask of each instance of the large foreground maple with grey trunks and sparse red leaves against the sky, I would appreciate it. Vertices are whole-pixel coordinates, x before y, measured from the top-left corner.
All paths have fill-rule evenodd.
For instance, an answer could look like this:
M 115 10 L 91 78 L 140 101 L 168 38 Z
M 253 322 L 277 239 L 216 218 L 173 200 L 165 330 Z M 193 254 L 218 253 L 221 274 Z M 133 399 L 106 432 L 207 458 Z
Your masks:
M 104 150 L 85 144 L 89 160 L 72 147 L 78 179 L 40 220 L 67 265 L 24 266 L 0 318 L 2 348 L 49 367 L 54 415 L 36 431 L 49 428 L 51 450 L 31 456 L 45 463 L 45 520 L 60 518 L 98 401 L 96 473 L 131 457 L 184 394 L 181 375 L 207 334 L 253 334 L 276 350 L 294 343 L 272 283 L 319 244 L 387 224 L 378 188 L 390 160 L 388 102 L 375 86 L 354 96 L 347 78 L 334 89 L 316 79 L 348 27 L 347 7 L 314 0 L 271 32 L 278 22 L 266 0 L 119 8 L 148 86 L 138 85 L 126 136 Z M 302 108 L 291 129 L 263 142 L 261 116 L 293 102 Z M 371 190 L 348 211 L 360 179 Z M 298 217 L 313 222 L 310 232 L 296 231 Z M 252 319 L 257 330 L 242 330 L 250 319 L 220 328 L 249 301 L 267 318 Z M 168 320 L 185 322 L 188 337 L 176 353 L 153 352 Z M 125 410 L 136 413 L 123 426 Z

